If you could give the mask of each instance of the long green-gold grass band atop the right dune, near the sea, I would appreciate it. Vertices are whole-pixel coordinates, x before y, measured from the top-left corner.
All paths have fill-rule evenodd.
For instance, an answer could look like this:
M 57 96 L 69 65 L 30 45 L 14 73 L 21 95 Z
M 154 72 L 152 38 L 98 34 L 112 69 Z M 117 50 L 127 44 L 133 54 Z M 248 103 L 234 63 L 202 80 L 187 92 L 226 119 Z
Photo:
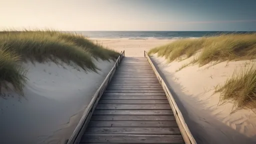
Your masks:
M 148 54 L 157 53 L 168 62 L 185 55 L 186 58 L 200 51 L 195 62 L 204 65 L 210 61 L 252 59 L 256 57 L 255 34 L 222 34 L 195 39 L 179 39 L 169 44 L 155 47 Z

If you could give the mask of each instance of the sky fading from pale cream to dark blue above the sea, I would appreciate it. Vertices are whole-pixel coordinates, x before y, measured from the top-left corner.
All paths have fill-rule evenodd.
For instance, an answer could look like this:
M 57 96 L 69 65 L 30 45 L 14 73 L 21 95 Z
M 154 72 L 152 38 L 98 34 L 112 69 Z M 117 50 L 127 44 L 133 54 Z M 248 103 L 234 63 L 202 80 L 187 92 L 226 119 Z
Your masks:
M 256 31 L 256 0 L 0 0 L 0 30 Z

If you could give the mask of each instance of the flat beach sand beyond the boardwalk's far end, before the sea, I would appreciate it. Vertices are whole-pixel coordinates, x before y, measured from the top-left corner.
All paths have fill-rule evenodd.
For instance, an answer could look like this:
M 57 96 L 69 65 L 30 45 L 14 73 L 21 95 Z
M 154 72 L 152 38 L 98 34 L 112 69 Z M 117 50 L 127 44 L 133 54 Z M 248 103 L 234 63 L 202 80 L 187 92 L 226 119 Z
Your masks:
M 125 50 L 125 56 L 143 57 L 143 51 L 171 42 L 173 39 L 128 39 L 128 38 L 90 38 L 117 51 Z

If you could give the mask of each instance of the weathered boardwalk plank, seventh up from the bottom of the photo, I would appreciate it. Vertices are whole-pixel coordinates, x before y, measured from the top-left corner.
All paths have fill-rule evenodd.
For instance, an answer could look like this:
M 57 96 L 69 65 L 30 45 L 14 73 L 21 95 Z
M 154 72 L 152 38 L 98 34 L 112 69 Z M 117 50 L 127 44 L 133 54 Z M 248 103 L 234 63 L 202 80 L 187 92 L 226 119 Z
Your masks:
M 168 100 L 114 100 L 101 99 L 98 101 L 101 104 L 168 104 Z

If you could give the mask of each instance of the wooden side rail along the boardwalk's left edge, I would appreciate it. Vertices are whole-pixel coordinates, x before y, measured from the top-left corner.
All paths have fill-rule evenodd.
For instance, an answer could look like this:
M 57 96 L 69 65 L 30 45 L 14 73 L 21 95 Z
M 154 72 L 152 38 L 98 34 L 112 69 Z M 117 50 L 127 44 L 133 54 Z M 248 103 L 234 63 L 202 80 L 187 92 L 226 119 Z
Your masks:
M 79 143 L 79 140 L 80 140 L 82 134 L 84 133 L 88 122 L 90 121 L 91 115 L 97 106 L 98 100 L 100 99 L 101 95 L 103 94 L 104 90 L 106 89 L 108 83 L 111 81 L 111 78 L 113 77 L 114 72 L 115 72 L 116 68 L 119 66 L 119 63 L 121 62 L 123 57 L 124 57 L 124 51 L 121 51 L 121 54 L 116 59 L 114 66 L 109 71 L 109 73 L 106 75 L 106 78 L 101 83 L 99 88 L 96 90 L 95 94 L 93 95 L 92 99 L 90 100 L 90 103 L 84 110 L 84 113 L 83 113 L 80 121 L 78 122 L 72 135 L 70 136 L 70 138 L 67 141 L 68 144 Z

